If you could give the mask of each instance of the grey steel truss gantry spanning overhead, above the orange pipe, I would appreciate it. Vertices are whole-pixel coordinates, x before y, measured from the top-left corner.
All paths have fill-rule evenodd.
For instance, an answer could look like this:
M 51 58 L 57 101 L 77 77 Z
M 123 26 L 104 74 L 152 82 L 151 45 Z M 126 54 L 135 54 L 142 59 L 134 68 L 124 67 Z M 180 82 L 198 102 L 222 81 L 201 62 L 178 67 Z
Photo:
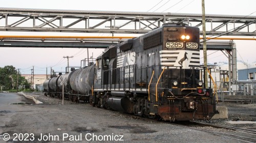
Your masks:
M 207 35 L 256 36 L 256 16 L 206 14 L 205 18 Z M 144 34 L 166 22 L 201 27 L 202 15 L 0 8 L 0 31 Z

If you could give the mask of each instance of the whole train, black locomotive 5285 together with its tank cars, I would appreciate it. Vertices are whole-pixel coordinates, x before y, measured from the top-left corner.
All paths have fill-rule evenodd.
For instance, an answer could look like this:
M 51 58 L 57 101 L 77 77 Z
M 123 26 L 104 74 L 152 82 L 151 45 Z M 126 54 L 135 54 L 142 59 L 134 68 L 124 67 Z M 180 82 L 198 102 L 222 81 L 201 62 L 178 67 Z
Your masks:
M 45 95 L 165 121 L 206 120 L 216 100 L 200 67 L 199 28 L 166 23 L 106 49 L 96 64 L 48 79 Z M 62 78 L 59 78 L 61 77 Z

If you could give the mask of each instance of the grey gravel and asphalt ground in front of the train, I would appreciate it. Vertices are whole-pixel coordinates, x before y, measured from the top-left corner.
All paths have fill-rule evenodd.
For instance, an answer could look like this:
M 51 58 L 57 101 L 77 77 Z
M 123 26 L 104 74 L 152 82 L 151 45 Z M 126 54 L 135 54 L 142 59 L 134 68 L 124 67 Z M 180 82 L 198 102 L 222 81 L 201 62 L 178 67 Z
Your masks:
M 88 139 L 91 137 L 90 134 L 98 137 L 100 135 L 118 135 L 119 138 L 123 135 L 122 139 L 124 141 L 122 142 L 242 142 L 216 136 L 216 132 L 224 129 L 185 127 L 162 122 L 142 121 L 117 111 L 92 107 L 89 104 L 65 101 L 65 105 L 61 105 L 62 101 L 60 99 L 46 97 L 41 93 L 27 95 L 35 96 L 44 104 L 6 106 L 5 108 L 9 106 L 16 107 L 16 111 L 5 113 L 0 117 L 9 119 L 5 126 L 0 127 L 0 131 L 1 129 L 3 131 L 2 134 L 33 133 L 36 139 L 39 139 L 41 134 L 57 135 L 59 141 L 11 142 L 99 142 L 99 140 L 86 141 L 87 134 L 89 134 Z M 76 137 L 81 135 L 82 141 L 70 141 L 71 136 L 62 140 L 62 135 L 65 133 Z M 13 139 L 13 136 L 11 139 Z

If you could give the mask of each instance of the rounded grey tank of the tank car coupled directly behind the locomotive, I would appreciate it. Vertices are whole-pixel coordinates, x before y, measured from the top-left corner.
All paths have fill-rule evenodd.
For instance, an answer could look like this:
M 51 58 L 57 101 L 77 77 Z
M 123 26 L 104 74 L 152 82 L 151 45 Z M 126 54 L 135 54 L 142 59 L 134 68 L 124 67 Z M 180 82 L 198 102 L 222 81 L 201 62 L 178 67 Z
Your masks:
M 76 70 L 71 75 L 70 86 L 80 95 L 89 95 L 94 82 L 95 64 L 84 69 Z

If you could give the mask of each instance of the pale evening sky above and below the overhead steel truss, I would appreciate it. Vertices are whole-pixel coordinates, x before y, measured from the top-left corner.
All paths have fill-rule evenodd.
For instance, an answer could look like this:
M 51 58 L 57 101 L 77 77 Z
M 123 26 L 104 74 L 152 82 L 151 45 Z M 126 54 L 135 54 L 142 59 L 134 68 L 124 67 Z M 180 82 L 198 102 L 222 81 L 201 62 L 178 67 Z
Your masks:
M 170 12 L 202 14 L 201 0 L 157 0 L 157 1 L 84 1 L 84 0 L 0 0 L 2 8 L 28 8 L 28 9 L 60 9 L 60 10 L 92 10 L 92 11 L 129 11 L 129 12 Z M 159 3 L 159 4 L 158 4 Z M 178 3 L 178 4 L 177 4 Z M 158 5 L 157 5 L 158 4 Z M 175 5 L 177 4 L 177 5 Z M 155 7 L 154 7 L 155 6 Z M 206 14 L 221 15 L 250 15 L 256 16 L 256 1 L 244 0 L 205 0 Z M 170 8 L 172 7 L 172 8 Z M 170 9 L 169 9 L 170 8 Z M 3 22 L 3 21 L 0 21 Z M 256 28 L 256 27 L 255 27 Z M 90 34 L 74 33 L 39 33 L 39 32 L 3 32 L 0 35 L 65 35 L 65 36 L 91 36 Z M 97 34 L 99 35 L 99 34 Z M 100 35 L 101 36 L 101 35 Z M 110 36 L 109 34 L 104 36 Z M 244 37 L 245 38 L 245 37 Z M 253 37 L 247 37 L 253 38 Z M 256 66 L 256 41 L 234 40 L 237 45 L 237 59 L 248 65 Z M 89 56 L 96 58 L 102 49 L 89 49 Z M 221 51 L 207 51 L 208 63 L 227 62 L 226 56 Z M 34 74 L 48 74 L 50 67 L 55 71 L 65 71 L 67 59 L 63 56 L 74 56 L 70 59 L 70 66 L 80 66 L 80 61 L 87 58 L 87 49 L 78 48 L 15 48 L 0 47 L 0 67 L 13 65 L 20 69 L 22 74 L 31 74 L 34 66 Z M 201 55 L 202 57 L 203 55 Z M 203 63 L 203 58 L 200 59 Z

